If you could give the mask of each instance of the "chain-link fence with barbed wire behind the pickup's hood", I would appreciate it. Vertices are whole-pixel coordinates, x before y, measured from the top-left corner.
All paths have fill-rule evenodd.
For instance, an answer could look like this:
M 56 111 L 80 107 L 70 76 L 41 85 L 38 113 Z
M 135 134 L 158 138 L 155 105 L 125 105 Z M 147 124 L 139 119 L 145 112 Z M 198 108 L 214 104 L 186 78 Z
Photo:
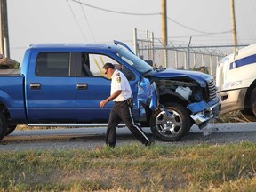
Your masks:
M 169 44 L 167 47 L 154 38 L 153 33 L 134 28 L 134 50 L 143 60 L 152 60 L 156 67 L 199 70 L 216 74 L 218 61 L 234 52 L 233 45 Z M 239 45 L 247 46 L 247 44 Z

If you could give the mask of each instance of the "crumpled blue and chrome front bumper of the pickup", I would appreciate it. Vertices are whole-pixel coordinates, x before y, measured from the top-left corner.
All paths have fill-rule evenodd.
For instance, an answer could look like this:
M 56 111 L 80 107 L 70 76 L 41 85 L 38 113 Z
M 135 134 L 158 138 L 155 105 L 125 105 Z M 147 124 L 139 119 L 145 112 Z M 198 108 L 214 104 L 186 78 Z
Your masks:
M 194 120 L 199 129 L 203 129 L 209 120 L 220 114 L 220 99 L 216 97 L 214 100 L 206 103 L 201 102 L 190 103 L 187 108 L 191 111 L 190 117 Z

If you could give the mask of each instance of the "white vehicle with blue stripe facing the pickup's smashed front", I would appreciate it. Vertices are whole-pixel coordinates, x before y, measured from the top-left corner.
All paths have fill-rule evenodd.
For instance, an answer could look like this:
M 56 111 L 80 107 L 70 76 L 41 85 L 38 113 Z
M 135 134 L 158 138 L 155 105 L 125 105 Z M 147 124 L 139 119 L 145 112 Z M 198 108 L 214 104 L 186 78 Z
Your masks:
M 240 110 L 248 121 L 256 122 L 256 44 L 220 60 L 216 86 L 220 114 Z

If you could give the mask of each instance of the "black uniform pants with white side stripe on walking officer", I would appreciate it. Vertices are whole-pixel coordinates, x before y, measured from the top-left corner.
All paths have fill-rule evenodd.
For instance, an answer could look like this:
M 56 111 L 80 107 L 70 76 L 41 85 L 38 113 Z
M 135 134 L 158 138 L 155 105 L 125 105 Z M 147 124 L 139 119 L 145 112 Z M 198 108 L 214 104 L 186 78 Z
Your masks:
M 132 117 L 132 108 L 129 107 L 127 101 L 114 102 L 114 106 L 110 112 L 108 120 L 108 128 L 106 135 L 106 144 L 114 148 L 116 146 L 116 127 L 123 121 L 133 135 L 144 145 L 150 141 L 145 132 L 139 125 L 135 124 Z

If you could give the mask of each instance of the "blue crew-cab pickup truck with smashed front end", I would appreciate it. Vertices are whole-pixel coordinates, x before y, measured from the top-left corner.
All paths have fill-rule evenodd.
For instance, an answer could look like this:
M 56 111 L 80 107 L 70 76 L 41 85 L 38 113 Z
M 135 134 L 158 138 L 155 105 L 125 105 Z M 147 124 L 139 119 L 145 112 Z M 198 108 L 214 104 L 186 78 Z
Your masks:
M 134 119 L 159 140 L 180 140 L 193 124 L 202 129 L 220 112 L 212 76 L 153 68 L 121 42 L 34 44 L 20 74 L 0 75 L 0 140 L 17 124 L 107 124 L 113 103 L 99 106 L 110 92 L 106 62 L 123 71 L 132 87 Z

